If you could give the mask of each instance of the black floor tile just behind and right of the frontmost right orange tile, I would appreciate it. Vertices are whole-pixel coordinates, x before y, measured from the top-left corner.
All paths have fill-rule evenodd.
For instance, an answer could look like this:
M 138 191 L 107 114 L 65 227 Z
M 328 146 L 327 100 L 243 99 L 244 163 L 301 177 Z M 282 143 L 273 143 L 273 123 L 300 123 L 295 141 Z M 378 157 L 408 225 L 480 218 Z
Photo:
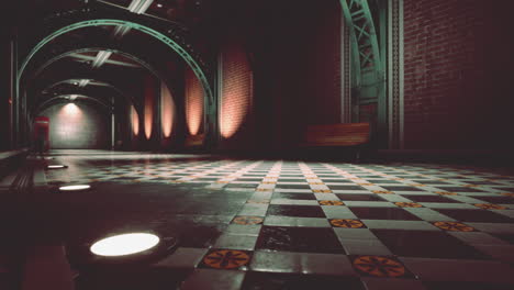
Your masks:
M 396 256 L 485 259 L 487 255 L 444 232 L 371 230 L 371 232 Z

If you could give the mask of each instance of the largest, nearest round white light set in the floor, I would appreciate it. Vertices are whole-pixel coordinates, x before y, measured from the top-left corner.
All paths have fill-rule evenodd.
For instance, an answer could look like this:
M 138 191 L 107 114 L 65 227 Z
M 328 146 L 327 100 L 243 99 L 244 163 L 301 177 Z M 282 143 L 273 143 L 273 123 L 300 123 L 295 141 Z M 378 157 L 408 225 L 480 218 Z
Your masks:
M 90 250 L 99 256 L 125 256 L 147 250 L 159 243 L 159 237 L 147 233 L 111 236 L 94 243 Z

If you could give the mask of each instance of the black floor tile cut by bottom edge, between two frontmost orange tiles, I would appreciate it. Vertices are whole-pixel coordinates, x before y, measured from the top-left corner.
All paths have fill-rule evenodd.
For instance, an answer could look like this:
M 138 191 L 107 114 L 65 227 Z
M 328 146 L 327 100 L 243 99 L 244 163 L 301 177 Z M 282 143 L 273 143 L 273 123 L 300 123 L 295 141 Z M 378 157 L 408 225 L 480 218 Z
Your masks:
M 242 290 L 365 290 L 358 278 L 275 272 L 248 272 Z

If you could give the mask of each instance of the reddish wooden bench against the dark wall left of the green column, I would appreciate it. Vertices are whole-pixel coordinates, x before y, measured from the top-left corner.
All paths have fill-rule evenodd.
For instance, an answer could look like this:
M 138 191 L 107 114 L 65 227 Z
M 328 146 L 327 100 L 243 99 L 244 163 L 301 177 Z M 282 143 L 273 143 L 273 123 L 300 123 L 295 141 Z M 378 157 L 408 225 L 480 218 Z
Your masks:
M 340 123 L 309 125 L 305 130 L 303 148 L 309 147 L 355 147 L 356 159 L 360 157 L 361 146 L 369 143 L 369 123 Z

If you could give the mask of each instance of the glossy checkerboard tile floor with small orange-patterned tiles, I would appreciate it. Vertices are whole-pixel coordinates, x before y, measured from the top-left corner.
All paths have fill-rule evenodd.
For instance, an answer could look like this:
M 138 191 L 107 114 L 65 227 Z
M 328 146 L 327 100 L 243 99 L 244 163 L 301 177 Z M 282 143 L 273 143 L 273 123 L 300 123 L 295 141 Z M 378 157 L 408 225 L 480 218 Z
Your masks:
M 514 176 L 506 171 L 174 155 L 53 163 L 69 168 L 46 170 L 48 183 L 246 194 L 221 234 L 200 247 L 182 243 L 155 265 L 187 269 L 180 289 L 514 289 Z

